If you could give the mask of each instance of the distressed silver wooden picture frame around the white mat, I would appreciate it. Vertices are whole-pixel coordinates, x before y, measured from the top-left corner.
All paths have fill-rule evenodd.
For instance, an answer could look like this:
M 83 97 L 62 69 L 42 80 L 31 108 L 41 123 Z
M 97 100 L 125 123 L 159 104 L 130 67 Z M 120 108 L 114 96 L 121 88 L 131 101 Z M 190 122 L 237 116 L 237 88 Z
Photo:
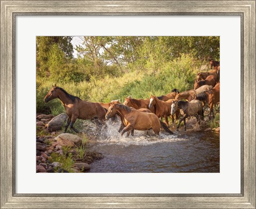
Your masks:
M 239 15 L 241 194 L 17 194 L 15 192 L 16 15 Z M 255 208 L 255 1 L 1 0 L 0 208 Z

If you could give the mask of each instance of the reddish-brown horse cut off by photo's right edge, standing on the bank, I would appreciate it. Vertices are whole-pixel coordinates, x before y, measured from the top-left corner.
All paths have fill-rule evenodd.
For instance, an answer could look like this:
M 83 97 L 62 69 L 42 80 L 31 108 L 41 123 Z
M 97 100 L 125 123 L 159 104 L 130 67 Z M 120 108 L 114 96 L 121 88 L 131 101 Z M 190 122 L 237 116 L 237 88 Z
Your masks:
M 210 107 L 209 119 L 211 120 L 211 114 L 214 118 L 213 105 L 220 102 L 220 83 L 217 83 L 211 90 L 205 91 L 207 96 L 207 103 Z

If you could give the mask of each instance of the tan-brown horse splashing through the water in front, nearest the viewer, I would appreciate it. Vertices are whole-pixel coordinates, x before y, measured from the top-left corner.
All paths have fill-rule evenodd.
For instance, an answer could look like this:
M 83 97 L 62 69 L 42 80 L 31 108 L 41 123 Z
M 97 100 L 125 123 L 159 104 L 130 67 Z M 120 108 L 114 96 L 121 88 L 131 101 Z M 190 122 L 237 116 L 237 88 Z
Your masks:
M 109 107 L 106 114 L 106 119 L 113 117 L 117 113 L 122 115 L 122 117 L 124 118 L 125 127 L 121 131 L 121 135 L 130 130 L 146 131 L 151 128 L 153 129 L 155 134 L 159 135 L 161 122 L 155 114 L 141 112 L 137 109 L 132 109 L 125 105 L 114 104 Z M 167 128 L 167 130 L 169 130 L 169 128 Z M 170 130 L 168 132 L 172 134 Z

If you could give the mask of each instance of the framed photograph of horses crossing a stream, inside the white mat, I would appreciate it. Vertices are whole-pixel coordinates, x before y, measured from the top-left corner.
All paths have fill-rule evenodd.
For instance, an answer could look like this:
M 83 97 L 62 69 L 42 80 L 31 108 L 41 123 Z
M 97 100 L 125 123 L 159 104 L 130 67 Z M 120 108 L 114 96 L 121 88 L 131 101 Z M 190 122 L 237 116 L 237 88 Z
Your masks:
M 220 36 L 36 36 L 37 173 L 220 173 Z

